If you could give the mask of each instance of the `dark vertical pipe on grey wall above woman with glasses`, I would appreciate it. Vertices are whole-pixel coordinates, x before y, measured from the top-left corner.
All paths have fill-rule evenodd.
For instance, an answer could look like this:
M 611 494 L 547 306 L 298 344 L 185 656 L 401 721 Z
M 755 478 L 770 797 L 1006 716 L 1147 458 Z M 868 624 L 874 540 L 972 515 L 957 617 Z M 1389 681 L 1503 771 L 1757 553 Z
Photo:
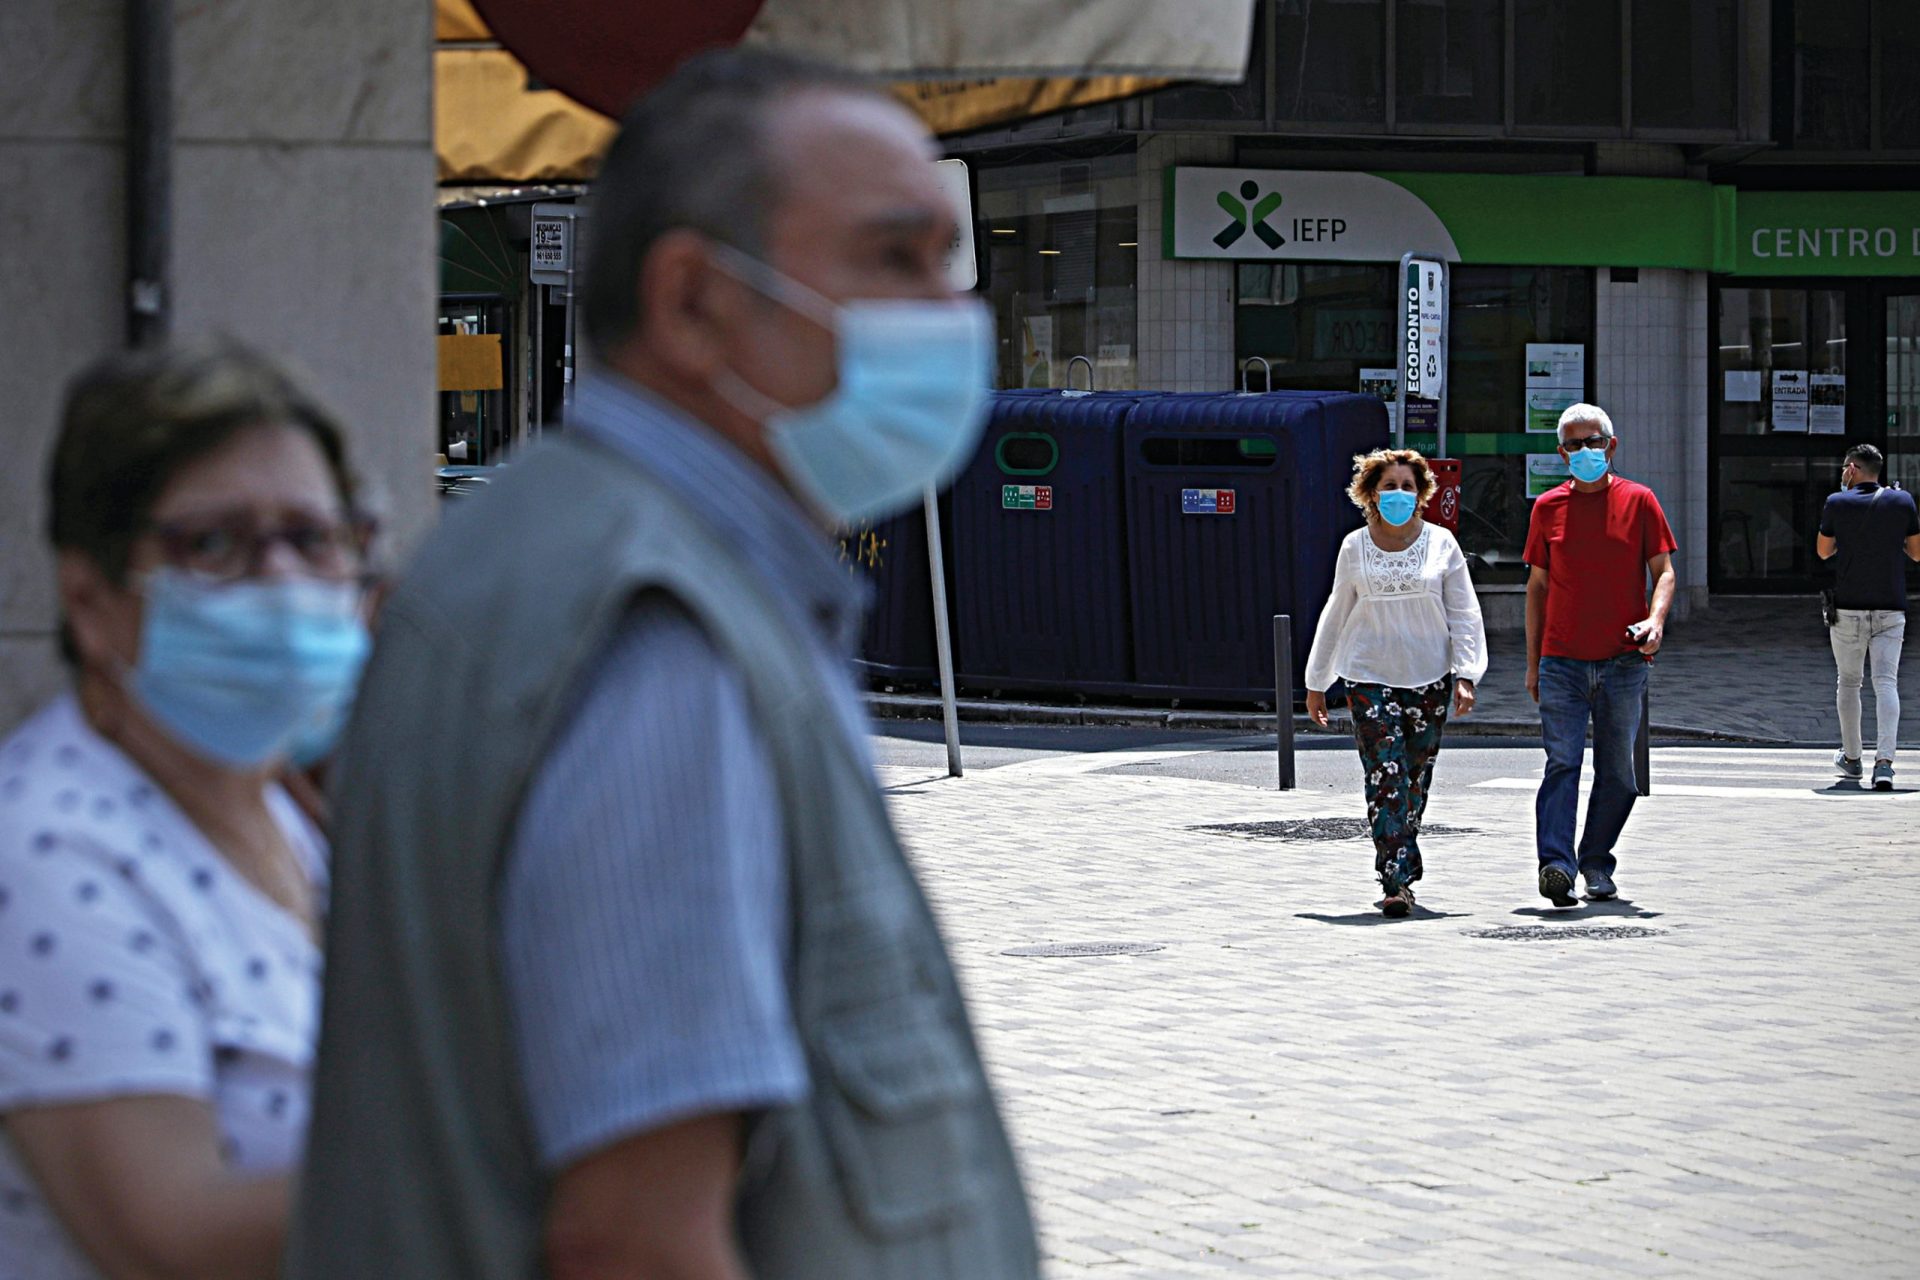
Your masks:
M 173 313 L 173 0 L 127 4 L 127 342 Z

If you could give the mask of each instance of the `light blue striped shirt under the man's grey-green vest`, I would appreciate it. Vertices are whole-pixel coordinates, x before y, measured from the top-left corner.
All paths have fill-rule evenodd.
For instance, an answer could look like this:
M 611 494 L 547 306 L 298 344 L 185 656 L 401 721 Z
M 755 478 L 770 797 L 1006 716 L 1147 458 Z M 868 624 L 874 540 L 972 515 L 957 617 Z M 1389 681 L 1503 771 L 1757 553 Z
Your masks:
M 783 489 L 639 388 L 580 388 L 570 428 L 637 459 L 764 574 L 814 639 L 839 729 L 864 587 Z M 522 806 L 501 960 L 549 1169 L 632 1134 L 797 1102 L 787 852 L 745 679 L 691 616 L 636 601 Z

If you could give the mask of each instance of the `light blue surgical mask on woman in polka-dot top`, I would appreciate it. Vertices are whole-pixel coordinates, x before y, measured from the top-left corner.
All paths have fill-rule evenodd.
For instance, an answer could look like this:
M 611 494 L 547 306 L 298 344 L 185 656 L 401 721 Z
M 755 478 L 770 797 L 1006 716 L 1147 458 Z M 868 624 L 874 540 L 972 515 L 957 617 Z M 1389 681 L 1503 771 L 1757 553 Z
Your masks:
M 317 760 L 353 702 L 371 641 L 359 587 L 311 578 L 146 576 L 132 691 L 182 747 L 236 770 Z

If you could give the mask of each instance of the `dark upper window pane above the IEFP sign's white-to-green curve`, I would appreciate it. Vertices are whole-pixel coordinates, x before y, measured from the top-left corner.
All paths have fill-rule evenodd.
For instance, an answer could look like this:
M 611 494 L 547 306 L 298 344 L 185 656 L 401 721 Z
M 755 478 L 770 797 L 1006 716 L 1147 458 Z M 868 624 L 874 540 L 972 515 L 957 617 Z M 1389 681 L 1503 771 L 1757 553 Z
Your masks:
M 1498 125 L 1505 0 L 1400 0 L 1394 113 L 1415 125 Z

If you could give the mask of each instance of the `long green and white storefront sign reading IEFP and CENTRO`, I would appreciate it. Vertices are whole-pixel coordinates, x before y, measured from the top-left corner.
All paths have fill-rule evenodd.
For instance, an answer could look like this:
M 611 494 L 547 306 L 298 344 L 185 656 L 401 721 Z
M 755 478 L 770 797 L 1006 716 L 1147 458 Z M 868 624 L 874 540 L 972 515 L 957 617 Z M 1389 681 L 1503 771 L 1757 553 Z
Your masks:
M 1920 274 L 1920 192 L 1741 192 L 1692 178 L 1169 167 L 1165 198 L 1165 257 L 1396 261 L 1419 251 L 1515 267 Z M 1248 226 L 1254 234 L 1244 234 Z

